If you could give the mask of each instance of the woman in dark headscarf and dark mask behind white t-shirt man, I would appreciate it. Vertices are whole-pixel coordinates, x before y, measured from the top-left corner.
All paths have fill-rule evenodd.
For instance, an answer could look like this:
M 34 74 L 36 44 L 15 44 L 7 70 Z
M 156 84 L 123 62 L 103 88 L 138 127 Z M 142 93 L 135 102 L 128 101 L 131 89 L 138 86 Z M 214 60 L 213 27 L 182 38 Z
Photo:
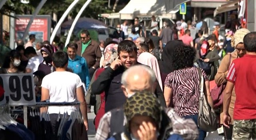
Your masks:
M 54 71 L 52 66 L 52 54 L 54 50 L 51 45 L 45 44 L 41 49 L 41 54 L 44 58 L 44 61 L 39 64 L 38 70 L 43 71 L 45 75 L 48 75 Z

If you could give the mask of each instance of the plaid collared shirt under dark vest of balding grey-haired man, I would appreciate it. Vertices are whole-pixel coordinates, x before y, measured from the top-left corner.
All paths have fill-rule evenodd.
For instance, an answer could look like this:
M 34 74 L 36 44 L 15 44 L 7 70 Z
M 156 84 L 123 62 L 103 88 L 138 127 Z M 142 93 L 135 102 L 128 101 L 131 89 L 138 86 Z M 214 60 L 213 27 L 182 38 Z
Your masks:
M 184 119 L 175 113 L 173 108 L 165 108 L 167 116 L 172 122 L 171 134 L 179 134 L 184 140 L 196 140 L 198 138 L 198 128 L 191 119 Z M 110 133 L 111 112 L 107 112 L 100 120 L 99 127 L 96 132 L 95 140 L 106 140 Z M 124 124 L 126 121 L 124 120 Z

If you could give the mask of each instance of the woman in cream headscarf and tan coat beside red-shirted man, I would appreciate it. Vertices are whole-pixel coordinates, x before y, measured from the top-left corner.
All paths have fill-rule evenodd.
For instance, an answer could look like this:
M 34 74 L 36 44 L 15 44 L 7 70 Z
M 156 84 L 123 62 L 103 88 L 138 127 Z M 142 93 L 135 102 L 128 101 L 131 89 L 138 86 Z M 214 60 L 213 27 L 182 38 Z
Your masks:
M 215 76 L 215 82 L 217 85 L 221 85 L 221 84 L 224 84 L 225 82 L 227 82 L 226 76 L 228 74 L 228 68 L 230 67 L 230 64 L 232 64 L 233 60 L 243 57 L 244 54 L 246 53 L 244 50 L 244 40 L 243 39 L 244 39 L 244 36 L 248 33 L 250 33 L 250 31 L 245 28 L 239 29 L 235 32 L 233 46 L 235 46 L 236 51 L 232 52 L 231 54 L 227 54 L 222 59 L 222 61 L 220 63 L 220 67 L 218 69 L 218 72 Z M 233 124 L 235 100 L 236 100 L 236 92 L 233 89 L 232 96 L 231 96 L 231 102 L 230 102 L 230 105 L 228 108 L 228 114 L 230 115 L 231 121 L 232 121 L 231 124 Z M 221 107 L 221 112 L 222 112 L 222 107 Z M 220 114 L 220 124 L 223 124 L 222 119 L 223 119 L 223 112 Z M 227 128 L 224 126 L 225 140 L 232 139 L 232 126 L 233 125 L 230 125 L 230 128 Z

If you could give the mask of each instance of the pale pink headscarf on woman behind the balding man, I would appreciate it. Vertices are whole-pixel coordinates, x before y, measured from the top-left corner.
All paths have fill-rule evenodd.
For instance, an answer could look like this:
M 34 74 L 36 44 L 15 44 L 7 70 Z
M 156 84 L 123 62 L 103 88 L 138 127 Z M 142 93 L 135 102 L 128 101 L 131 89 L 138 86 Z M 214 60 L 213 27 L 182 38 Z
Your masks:
M 150 68 L 152 68 L 154 70 L 154 72 L 156 74 L 156 79 L 158 80 L 158 83 L 159 83 L 161 89 L 163 90 L 160 68 L 159 68 L 158 61 L 157 61 L 156 57 L 154 55 L 150 54 L 149 52 L 143 52 L 142 54 L 139 55 L 139 57 L 137 58 L 137 61 L 141 64 L 149 66 Z

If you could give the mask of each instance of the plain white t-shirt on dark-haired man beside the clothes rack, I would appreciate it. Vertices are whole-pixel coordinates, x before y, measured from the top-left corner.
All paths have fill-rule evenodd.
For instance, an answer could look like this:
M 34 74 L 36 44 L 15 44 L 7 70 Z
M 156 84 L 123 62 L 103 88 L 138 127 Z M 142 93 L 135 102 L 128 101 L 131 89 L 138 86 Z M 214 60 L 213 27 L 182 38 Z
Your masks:
M 49 90 L 50 102 L 76 102 L 76 88 L 82 86 L 82 80 L 72 72 L 52 72 L 42 80 L 42 87 Z M 77 110 L 78 106 L 49 106 L 49 114 L 64 114 Z

